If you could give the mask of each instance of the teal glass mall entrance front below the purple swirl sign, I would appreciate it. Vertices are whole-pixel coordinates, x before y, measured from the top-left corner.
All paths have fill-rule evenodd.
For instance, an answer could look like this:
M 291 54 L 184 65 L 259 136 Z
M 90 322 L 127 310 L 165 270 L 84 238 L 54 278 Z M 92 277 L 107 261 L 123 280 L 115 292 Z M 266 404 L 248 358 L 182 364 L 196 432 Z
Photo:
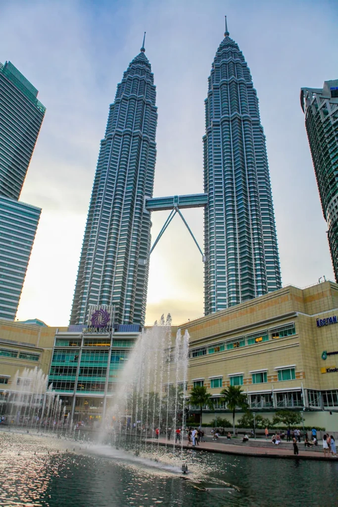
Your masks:
M 107 333 L 72 331 L 77 328 L 82 327 L 70 325 L 69 331 L 55 335 L 49 383 L 71 420 L 91 424 L 104 417 L 139 326 L 115 325 Z

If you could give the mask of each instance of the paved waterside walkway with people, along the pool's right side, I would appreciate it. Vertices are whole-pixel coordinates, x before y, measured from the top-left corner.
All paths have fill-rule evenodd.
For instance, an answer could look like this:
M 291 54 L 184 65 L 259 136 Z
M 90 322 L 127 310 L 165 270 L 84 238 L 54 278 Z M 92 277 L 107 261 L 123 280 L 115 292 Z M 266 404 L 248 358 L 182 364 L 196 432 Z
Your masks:
M 160 445 L 168 445 L 173 446 L 173 440 L 166 440 L 165 438 L 160 438 L 159 441 L 156 439 L 146 439 L 146 442 L 152 443 L 160 443 Z M 176 447 L 181 447 L 181 444 L 176 444 Z M 187 445 L 187 441 L 184 440 L 183 449 L 194 449 L 196 451 L 209 451 L 209 452 L 219 452 L 223 454 L 241 454 L 243 456 L 259 456 L 259 457 L 269 457 L 269 458 L 288 458 L 288 459 L 314 459 L 314 460 L 330 460 L 330 461 L 338 461 L 338 458 L 334 458 L 330 455 L 329 458 L 324 457 L 324 451 L 319 453 L 318 451 L 311 451 L 304 449 L 304 443 L 298 444 L 299 455 L 294 456 L 293 447 L 290 448 L 290 444 L 286 447 L 283 444 L 279 446 L 273 446 L 271 444 L 271 448 L 269 447 L 254 447 L 254 446 L 246 446 L 245 444 L 223 444 L 219 442 L 200 442 L 198 446 L 193 447 L 192 445 Z

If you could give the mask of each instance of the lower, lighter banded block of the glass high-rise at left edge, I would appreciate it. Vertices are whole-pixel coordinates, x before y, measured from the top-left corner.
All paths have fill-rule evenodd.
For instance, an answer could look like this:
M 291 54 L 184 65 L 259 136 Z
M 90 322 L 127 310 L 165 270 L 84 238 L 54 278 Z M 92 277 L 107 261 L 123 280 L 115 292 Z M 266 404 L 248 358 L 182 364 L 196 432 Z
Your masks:
M 0 195 L 0 318 L 15 318 L 40 213 Z

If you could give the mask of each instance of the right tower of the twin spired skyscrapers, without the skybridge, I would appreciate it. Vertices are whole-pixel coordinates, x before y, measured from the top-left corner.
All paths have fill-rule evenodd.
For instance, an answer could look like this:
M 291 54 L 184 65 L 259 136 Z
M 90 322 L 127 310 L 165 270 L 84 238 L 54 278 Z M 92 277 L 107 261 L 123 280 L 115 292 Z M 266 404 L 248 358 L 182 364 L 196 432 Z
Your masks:
M 205 99 L 205 313 L 281 286 L 274 209 L 258 99 L 228 27 Z

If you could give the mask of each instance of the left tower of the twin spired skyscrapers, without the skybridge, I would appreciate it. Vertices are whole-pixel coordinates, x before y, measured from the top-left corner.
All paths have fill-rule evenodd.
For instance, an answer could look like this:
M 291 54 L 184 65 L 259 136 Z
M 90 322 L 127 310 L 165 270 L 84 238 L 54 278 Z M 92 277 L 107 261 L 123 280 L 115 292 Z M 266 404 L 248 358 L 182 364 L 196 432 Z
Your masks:
M 144 323 L 156 160 L 156 87 L 151 64 L 132 60 L 109 107 L 98 157 L 70 324 L 89 305 L 115 305 L 115 321 Z

